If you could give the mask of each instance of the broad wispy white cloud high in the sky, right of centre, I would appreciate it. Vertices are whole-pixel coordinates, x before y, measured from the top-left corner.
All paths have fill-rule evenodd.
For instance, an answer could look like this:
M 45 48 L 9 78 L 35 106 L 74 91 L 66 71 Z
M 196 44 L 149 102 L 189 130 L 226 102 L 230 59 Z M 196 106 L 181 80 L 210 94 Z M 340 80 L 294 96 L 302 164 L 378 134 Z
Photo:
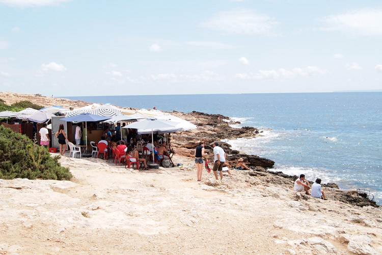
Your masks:
M 253 10 L 239 9 L 217 13 L 201 24 L 201 27 L 228 34 L 271 35 L 278 22 Z

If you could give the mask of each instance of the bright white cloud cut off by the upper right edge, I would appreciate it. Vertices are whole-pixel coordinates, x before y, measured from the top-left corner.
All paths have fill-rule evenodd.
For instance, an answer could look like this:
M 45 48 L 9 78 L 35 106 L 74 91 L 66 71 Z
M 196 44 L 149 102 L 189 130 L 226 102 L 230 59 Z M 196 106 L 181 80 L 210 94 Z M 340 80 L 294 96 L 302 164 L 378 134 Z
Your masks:
M 339 31 L 350 35 L 382 35 L 382 9 L 352 10 L 319 19 L 326 23 L 324 31 Z

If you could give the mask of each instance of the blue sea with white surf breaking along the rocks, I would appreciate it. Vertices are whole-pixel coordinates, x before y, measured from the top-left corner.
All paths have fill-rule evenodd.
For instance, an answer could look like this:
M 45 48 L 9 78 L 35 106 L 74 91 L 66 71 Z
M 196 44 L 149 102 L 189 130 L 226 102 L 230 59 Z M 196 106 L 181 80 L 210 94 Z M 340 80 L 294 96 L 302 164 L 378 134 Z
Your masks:
M 73 96 L 121 107 L 222 114 L 264 131 L 228 141 L 274 160 L 275 171 L 342 189 L 366 188 L 382 204 L 382 92 Z

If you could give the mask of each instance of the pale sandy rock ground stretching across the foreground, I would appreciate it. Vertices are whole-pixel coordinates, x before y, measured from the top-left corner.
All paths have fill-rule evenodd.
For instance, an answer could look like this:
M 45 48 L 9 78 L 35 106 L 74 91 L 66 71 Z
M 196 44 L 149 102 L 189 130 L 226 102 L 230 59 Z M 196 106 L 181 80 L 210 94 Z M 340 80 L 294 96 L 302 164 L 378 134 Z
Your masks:
M 196 182 L 192 159 L 137 171 L 73 159 L 69 181 L 0 180 L 0 254 L 380 254 L 379 208 L 305 200 L 239 171 Z M 363 253 L 362 253 L 363 252 Z M 367 253 L 368 252 L 368 253 Z

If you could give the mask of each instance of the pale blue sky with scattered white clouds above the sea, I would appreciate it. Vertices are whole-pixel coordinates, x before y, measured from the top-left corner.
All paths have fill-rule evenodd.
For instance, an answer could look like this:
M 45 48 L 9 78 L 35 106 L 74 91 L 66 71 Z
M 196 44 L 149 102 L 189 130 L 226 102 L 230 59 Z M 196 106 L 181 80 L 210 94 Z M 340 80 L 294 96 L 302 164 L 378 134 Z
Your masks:
M 0 90 L 382 90 L 376 0 L 0 0 Z

